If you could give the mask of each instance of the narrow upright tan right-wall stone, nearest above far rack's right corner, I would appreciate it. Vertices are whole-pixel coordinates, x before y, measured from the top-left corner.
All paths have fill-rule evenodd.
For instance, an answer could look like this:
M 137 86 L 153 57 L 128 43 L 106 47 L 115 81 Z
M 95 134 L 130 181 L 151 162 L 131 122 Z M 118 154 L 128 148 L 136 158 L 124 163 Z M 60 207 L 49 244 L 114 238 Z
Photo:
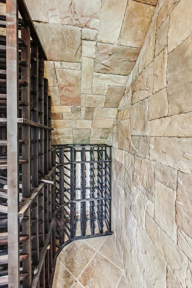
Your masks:
M 122 120 L 118 123 L 118 147 L 119 149 L 130 151 L 130 119 Z

